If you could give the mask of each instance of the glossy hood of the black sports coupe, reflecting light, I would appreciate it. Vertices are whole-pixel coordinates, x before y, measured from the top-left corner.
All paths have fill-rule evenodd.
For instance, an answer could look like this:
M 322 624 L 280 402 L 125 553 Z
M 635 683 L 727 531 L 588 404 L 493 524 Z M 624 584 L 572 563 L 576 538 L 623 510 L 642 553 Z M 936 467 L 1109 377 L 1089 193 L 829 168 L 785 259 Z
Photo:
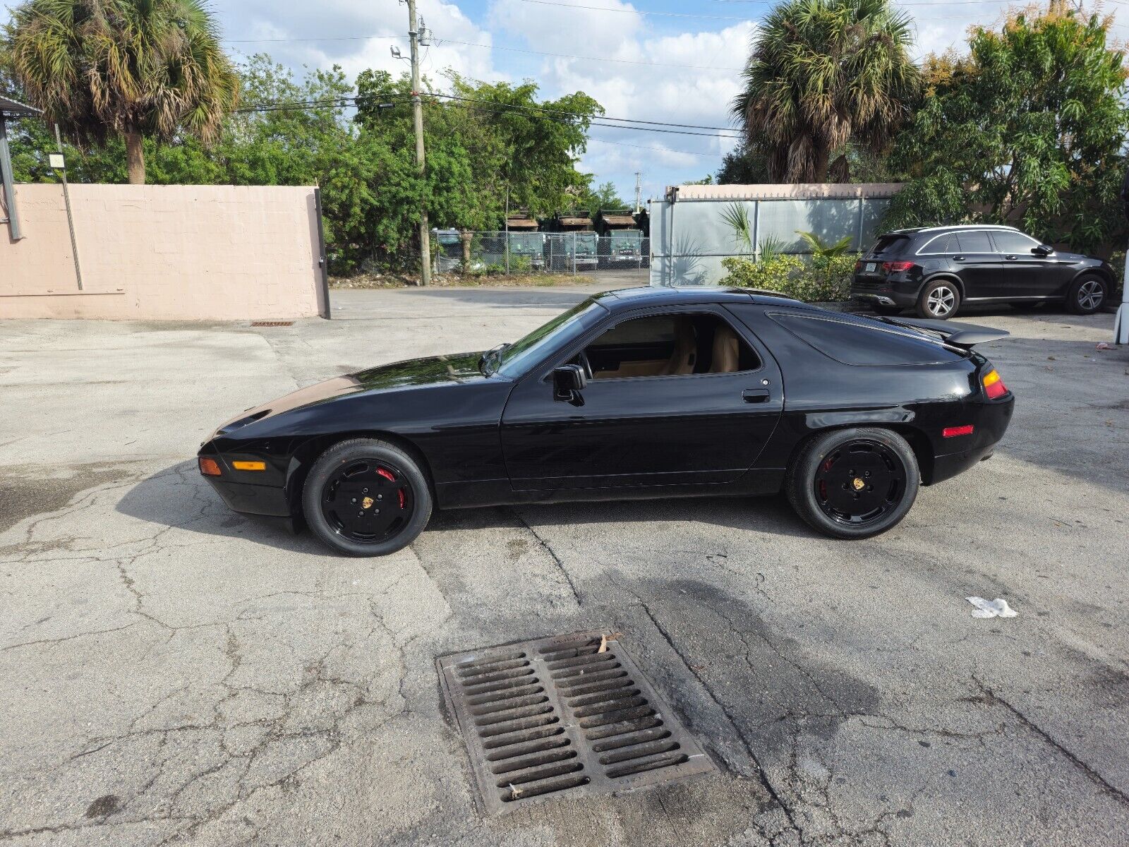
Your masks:
M 307 385 L 277 400 L 240 412 L 216 430 L 216 435 L 227 435 L 236 429 L 266 417 L 316 405 L 331 400 L 366 392 L 403 391 L 427 388 L 452 383 L 466 383 L 490 377 L 479 369 L 481 352 L 455 353 L 453 356 L 428 356 L 422 359 L 394 361 L 375 368 L 335 376 L 325 382 Z

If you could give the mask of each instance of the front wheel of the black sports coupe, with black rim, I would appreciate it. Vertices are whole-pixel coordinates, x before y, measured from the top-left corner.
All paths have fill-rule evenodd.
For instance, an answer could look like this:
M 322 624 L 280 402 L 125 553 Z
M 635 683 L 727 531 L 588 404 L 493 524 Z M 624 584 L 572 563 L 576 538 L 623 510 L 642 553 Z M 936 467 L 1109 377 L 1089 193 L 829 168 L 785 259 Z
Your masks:
M 310 531 L 338 552 L 387 556 L 419 536 L 432 501 L 411 455 L 388 442 L 352 438 L 317 457 L 301 505 Z

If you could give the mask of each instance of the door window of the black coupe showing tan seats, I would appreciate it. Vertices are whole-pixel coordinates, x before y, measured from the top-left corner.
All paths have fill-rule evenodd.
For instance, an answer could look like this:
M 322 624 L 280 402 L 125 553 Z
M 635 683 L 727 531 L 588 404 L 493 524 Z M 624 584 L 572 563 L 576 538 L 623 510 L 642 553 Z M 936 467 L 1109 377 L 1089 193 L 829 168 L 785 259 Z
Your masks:
M 728 374 L 760 367 L 749 343 L 710 314 L 634 317 L 603 333 L 584 356 L 593 379 Z

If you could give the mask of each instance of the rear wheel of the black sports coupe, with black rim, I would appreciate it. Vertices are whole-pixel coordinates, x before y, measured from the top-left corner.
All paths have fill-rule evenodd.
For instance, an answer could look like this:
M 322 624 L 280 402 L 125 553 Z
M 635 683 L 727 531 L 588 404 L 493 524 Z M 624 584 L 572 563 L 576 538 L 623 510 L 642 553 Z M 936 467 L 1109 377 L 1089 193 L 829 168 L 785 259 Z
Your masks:
M 796 514 L 824 535 L 866 539 L 900 523 L 920 484 L 917 456 L 904 438 L 859 427 L 807 442 L 788 468 L 785 492 Z

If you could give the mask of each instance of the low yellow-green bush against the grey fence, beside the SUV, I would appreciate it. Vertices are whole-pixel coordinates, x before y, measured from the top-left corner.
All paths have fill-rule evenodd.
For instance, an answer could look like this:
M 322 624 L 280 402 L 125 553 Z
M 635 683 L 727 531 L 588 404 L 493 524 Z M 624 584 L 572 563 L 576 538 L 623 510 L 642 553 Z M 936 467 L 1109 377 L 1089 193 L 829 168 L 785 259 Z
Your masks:
M 834 303 L 850 297 L 850 280 L 855 273 L 855 256 L 776 255 L 754 262 L 750 259 L 723 259 L 728 276 L 721 285 L 762 288 L 779 291 L 804 303 Z

